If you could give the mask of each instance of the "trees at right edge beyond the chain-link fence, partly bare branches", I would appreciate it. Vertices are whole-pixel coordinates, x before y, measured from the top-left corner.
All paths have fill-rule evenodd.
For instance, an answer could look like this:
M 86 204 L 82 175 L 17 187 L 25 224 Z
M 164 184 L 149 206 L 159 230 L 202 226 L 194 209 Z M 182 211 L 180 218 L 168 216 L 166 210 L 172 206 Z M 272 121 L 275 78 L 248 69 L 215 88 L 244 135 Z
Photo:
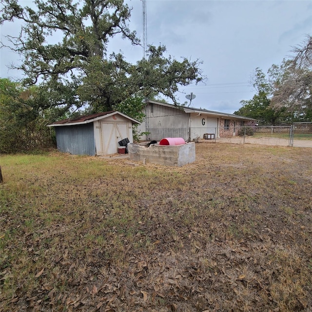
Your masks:
M 256 68 L 251 84 L 257 94 L 236 115 L 252 117 L 263 124 L 312 120 L 312 37 L 293 49 L 292 59 L 273 64 L 267 75 Z

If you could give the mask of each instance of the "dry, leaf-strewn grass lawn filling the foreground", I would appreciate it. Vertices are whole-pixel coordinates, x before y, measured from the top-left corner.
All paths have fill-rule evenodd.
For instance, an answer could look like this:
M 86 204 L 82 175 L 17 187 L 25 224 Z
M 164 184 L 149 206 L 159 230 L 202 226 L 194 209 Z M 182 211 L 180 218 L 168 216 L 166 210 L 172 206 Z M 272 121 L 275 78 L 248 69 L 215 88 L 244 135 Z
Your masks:
M 312 311 L 312 149 L 181 168 L 1 156 L 0 311 Z

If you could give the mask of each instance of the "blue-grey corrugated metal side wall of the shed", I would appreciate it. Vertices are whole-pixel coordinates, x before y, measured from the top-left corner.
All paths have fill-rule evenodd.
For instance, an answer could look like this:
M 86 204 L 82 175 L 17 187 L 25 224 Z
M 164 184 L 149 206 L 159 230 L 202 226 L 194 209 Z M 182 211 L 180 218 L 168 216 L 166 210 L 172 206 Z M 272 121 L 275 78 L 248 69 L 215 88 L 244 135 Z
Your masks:
M 95 156 L 93 122 L 76 126 L 55 127 L 58 149 L 72 155 Z

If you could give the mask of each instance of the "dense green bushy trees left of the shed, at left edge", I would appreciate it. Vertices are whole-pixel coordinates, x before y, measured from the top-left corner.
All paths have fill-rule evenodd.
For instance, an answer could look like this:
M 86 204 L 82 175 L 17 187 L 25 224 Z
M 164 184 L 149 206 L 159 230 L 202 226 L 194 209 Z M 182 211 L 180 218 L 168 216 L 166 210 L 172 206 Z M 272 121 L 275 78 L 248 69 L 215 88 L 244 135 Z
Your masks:
M 53 135 L 46 124 L 55 118 L 55 112 L 47 108 L 47 102 L 40 87 L 24 88 L 20 83 L 0 78 L 0 152 L 53 145 Z M 41 107 L 46 107 L 44 113 Z

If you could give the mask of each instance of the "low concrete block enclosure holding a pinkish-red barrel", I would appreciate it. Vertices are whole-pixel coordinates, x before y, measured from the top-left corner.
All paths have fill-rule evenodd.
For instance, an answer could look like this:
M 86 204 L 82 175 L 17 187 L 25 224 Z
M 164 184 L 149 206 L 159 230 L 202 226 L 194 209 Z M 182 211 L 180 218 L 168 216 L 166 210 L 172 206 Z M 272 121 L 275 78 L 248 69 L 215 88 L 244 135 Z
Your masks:
M 181 167 L 195 161 L 194 142 L 176 146 L 153 144 L 150 147 L 130 144 L 128 152 L 131 160 L 164 166 Z

